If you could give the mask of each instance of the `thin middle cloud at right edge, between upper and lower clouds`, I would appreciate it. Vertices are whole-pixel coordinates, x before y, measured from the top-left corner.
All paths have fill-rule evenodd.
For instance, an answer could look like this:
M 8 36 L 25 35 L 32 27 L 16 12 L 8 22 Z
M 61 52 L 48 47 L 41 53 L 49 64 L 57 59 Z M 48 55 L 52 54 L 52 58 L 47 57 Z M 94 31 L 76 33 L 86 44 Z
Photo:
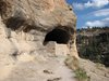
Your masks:
M 109 16 L 109 9 L 98 10 L 98 11 L 93 12 L 93 14 L 95 16 Z

